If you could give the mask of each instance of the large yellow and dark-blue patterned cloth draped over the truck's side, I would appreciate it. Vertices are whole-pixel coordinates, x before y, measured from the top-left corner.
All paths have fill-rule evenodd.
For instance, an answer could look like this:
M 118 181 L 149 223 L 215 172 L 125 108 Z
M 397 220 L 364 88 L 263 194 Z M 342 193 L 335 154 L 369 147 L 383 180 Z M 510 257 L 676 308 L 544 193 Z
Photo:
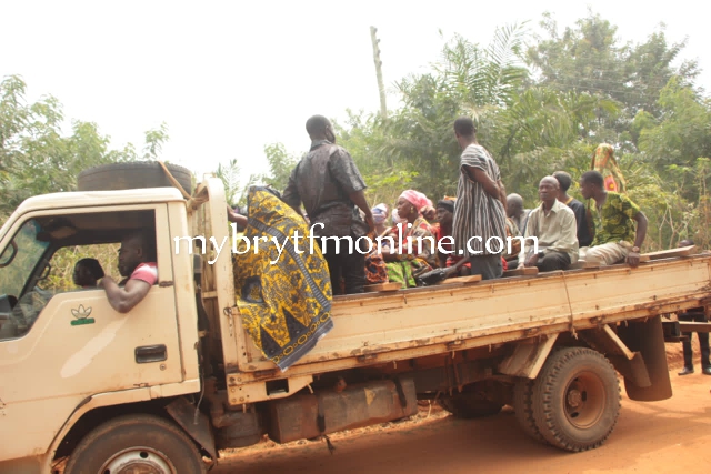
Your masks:
M 286 371 L 333 329 L 329 270 L 318 241 L 311 252 L 304 239 L 306 221 L 271 191 L 251 186 L 248 205 L 250 248 L 242 240 L 234 259 L 237 306 L 254 345 Z

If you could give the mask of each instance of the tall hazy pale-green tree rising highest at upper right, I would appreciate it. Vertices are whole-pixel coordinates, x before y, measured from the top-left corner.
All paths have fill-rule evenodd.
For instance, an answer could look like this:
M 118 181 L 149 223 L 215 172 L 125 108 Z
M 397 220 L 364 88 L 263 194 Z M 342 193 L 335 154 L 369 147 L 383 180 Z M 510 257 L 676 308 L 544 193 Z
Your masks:
M 667 82 L 677 75 L 688 85 L 698 74 L 695 61 L 672 67 L 687 43 L 668 44 L 663 26 L 640 44 L 621 42 L 618 28 L 592 11 L 562 34 L 550 13 L 541 27 L 547 38 L 539 38 L 527 56 L 535 82 L 599 98 L 603 107 L 595 109 L 589 132 L 599 142 L 628 151 L 637 147 L 638 135 L 631 131 L 635 114 L 644 111 L 658 118 L 658 99 Z

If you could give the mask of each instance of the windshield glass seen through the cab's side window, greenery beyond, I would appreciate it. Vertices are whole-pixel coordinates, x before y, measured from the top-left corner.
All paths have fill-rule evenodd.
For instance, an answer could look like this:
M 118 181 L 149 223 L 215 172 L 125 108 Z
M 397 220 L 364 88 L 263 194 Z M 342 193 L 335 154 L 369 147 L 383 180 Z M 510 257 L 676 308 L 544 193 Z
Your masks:
M 20 297 L 32 271 L 44 254 L 49 242 L 37 240 L 40 224 L 29 220 L 0 253 L 0 294 Z M 13 245 L 14 244 L 14 245 Z

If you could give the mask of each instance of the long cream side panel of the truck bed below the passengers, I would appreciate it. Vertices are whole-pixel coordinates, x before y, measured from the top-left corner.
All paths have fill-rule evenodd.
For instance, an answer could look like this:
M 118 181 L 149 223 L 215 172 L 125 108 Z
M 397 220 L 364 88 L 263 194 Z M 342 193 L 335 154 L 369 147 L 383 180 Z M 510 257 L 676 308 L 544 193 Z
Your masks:
M 580 331 L 702 305 L 711 254 L 336 296 L 334 329 L 289 376 Z M 247 365 L 274 369 L 246 334 Z M 277 375 L 276 373 L 270 374 Z

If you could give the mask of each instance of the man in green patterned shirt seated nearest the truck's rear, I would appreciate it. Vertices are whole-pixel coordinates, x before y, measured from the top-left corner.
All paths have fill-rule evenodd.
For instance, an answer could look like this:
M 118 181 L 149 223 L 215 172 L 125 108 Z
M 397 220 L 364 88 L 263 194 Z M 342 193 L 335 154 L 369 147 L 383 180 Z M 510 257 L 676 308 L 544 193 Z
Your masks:
M 602 174 L 588 171 L 580 178 L 580 192 L 592 199 L 595 236 L 588 248 L 580 249 L 580 260 L 603 265 L 624 262 L 640 263 L 640 248 L 647 236 L 647 216 L 627 195 L 607 191 Z M 637 222 L 637 231 L 634 230 Z

